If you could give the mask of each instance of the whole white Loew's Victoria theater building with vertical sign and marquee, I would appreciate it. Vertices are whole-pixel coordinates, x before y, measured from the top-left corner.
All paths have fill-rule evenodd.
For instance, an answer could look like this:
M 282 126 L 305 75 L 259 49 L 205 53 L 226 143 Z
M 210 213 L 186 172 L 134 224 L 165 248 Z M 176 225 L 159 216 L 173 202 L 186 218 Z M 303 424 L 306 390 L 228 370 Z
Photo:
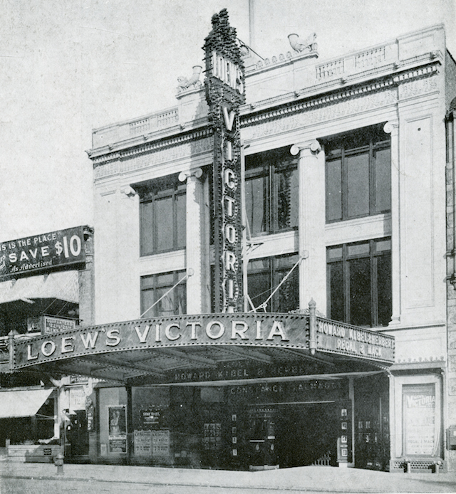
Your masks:
M 99 379 L 90 461 L 456 466 L 444 28 L 289 40 L 221 11 L 175 107 L 93 131 L 95 325 L 12 364 Z

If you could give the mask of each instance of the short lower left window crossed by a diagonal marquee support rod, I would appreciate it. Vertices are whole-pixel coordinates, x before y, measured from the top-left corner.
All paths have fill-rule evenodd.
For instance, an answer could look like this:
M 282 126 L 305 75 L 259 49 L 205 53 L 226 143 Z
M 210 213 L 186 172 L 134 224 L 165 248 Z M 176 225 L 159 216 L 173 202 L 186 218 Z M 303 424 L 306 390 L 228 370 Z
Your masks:
M 179 283 L 175 288 L 172 288 L 179 280 L 182 280 L 184 276 L 185 271 L 174 271 L 172 273 L 142 276 L 142 317 L 185 314 L 187 312 L 185 280 Z M 169 290 L 171 290 L 170 293 L 167 293 Z M 165 293 L 167 293 L 167 295 L 165 295 Z M 157 300 L 160 300 L 160 302 L 157 303 Z

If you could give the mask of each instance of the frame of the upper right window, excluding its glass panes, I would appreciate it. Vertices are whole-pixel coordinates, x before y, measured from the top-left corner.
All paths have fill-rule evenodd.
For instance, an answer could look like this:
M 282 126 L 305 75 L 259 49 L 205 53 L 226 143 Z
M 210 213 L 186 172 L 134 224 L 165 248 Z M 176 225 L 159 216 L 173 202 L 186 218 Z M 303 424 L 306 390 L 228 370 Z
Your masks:
M 356 146 L 357 140 L 365 140 L 366 144 Z M 357 130 L 335 139 L 323 141 L 325 149 L 325 198 L 326 198 L 326 224 L 336 223 L 338 221 L 347 221 L 351 219 L 373 216 L 375 214 L 385 214 L 391 211 L 391 154 L 389 159 L 389 207 L 388 209 L 377 209 L 377 203 L 380 202 L 380 194 L 377 193 L 377 173 L 376 167 L 377 154 L 386 149 L 391 150 L 390 135 L 385 134 L 380 127 Z M 350 184 L 348 183 L 348 159 L 351 157 L 368 154 L 368 212 L 361 214 L 350 214 L 348 200 L 350 197 Z M 329 167 L 328 164 L 341 160 L 341 217 L 330 219 L 328 183 Z

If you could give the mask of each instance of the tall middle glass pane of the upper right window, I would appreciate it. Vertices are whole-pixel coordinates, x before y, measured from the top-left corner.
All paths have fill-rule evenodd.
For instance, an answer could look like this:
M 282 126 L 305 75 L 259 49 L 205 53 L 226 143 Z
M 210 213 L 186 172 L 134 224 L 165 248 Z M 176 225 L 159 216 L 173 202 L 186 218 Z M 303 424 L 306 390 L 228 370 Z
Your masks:
M 369 154 L 346 157 L 348 217 L 369 214 Z

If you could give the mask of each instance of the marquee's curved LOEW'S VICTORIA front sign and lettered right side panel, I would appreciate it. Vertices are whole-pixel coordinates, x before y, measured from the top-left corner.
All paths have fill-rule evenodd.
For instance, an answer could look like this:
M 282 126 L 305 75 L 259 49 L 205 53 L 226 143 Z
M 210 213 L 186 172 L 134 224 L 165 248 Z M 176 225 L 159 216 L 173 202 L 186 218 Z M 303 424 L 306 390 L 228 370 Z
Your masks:
M 197 355 L 202 349 L 211 348 L 232 348 L 238 352 L 241 352 L 239 349 L 242 352 L 275 349 L 296 355 L 301 352 L 302 355 L 309 351 L 309 316 L 271 313 L 181 315 L 79 327 L 28 340 L 16 339 L 12 370 L 98 354 L 118 354 L 121 358 L 122 352 L 174 349 L 173 352 L 194 351 Z M 392 364 L 394 337 L 318 318 L 317 351 L 359 361 Z M 245 355 L 248 357 L 247 353 Z M 259 357 L 261 353 L 255 356 Z M 267 354 L 263 358 L 268 362 Z M 197 367 L 204 359 L 193 357 L 192 360 L 193 366 Z

